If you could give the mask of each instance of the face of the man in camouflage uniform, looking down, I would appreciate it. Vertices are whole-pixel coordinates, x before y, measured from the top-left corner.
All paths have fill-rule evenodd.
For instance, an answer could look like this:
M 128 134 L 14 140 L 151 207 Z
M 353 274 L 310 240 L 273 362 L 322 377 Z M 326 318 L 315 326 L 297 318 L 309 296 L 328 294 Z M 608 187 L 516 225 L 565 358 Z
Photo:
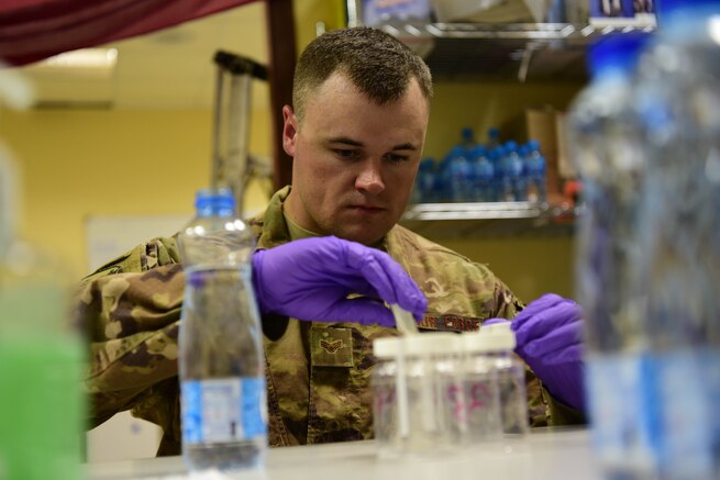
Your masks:
M 286 213 L 303 228 L 372 245 L 402 215 L 422 155 L 429 104 L 412 80 L 378 105 L 333 74 L 298 122 L 283 110 L 283 146 L 293 157 Z

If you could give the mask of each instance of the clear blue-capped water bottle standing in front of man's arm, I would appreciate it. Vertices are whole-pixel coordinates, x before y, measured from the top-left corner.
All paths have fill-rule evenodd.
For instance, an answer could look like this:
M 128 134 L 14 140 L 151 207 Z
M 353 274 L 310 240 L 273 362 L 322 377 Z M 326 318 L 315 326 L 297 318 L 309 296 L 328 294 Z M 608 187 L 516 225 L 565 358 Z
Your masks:
M 259 314 L 251 283 L 255 239 L 230 190 L 201 190 L 179 236 L 186 287 L 179 372 L 182 455 L 190 471 L 259 467 L 267 405 Z

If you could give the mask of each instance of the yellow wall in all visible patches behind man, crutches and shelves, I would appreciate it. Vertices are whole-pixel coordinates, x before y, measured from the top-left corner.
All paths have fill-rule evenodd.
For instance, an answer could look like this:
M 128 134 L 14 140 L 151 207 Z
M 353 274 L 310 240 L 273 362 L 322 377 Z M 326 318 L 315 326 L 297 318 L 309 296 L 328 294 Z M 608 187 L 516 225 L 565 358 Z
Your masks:
M 339 4 L 296 2 L 298 48 L 317 21 L 339 22 Z M 517 122 L 529 105 L 567 104 L 577 87 L 439 83 L 425 153 L 441 156 L 462 126 L 484 135 Z M 253 112 L 251 152 L 269 156 L 269 115 Z M 24 182 L 23 233 L 60 255 L 79 278 L 88 272 L 84 222 L 89 215 L 191 214 L 193 192 L 210 170 L 209 111 L 0 111 L 0 138 L 15 153 Z M 480 139 L 483 137 L 480 136 Z M 250 209 L 263 196 L 253 190 Z M 488 263 L 522 299 L 544 291 L 572 295 L 572 238 L 467 238 L 441 243 Z

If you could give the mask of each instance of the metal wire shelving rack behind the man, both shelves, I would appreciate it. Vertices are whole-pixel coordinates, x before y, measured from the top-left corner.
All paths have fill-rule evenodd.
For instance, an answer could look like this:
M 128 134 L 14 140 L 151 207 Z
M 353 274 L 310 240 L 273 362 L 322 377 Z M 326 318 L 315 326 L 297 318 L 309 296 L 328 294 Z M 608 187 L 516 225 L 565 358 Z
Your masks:
M 350 0 L 351 24 L 358 2 Z M 391 23 L 380 26 L 422 56 L 435 81 L 567 81 L 585 83 L 585 54 L 610 33 L 654 25 L 569 23 Z M 571 235 L 580 208 L 533 202 L 420 203 L 400 224 L 428 237 Z

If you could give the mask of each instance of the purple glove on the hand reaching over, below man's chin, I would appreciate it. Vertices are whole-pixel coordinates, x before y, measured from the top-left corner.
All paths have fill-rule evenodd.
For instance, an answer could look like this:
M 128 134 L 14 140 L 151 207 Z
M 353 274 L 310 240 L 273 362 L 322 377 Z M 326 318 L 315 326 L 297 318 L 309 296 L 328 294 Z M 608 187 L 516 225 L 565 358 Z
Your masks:
M 334 236 L 304 238 L 253 254 L 263 313 L 298 320 L 394 326 L 397 303 L 422 320 L 428 300 L 388 254 Z M 347 299 L 351 293 L 363 297 Z

